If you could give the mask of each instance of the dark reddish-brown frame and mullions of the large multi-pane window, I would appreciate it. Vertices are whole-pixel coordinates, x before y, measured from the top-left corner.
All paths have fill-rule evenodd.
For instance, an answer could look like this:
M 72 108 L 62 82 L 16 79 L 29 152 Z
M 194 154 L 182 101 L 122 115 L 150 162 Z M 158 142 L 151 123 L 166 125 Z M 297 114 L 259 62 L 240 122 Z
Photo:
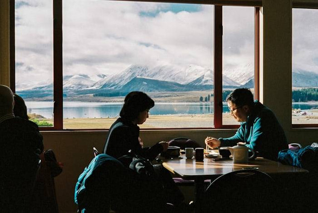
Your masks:
M 254 94 L 259 99 L 259 9 L 262 0 L 124 0 L 142 2 L 213 4 L 214 6 L 214 127 L 205 128 L 156 128 L 144 130 L 187 129 L 235 129 L 239 125 L 223 124 L 222 106 L 222 6 L 254 7 Z M 95 131 L 108 129 L 64 129 L 63 128 L 63 0 L 53 2 L 53 127 L 39 127 L 40 131 Z M 15 92 L 15 0 L 10 1 L 10 87 Z M 212 23 L 213 24 L 213 23 Z M 218 27 L 216 27 L 218 26 Z

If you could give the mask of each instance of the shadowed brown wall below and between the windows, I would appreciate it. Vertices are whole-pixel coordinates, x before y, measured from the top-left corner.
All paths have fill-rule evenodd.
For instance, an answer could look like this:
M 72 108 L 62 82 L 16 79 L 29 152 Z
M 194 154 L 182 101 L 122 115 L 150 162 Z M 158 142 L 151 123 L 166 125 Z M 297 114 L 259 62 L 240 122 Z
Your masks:
M 298 0 L 300 1 L 300 0 Z M 317 2 L 317 0 L 310 0 Z M 0 0 L 0 82 L 9 82 L 8 3 Z M 303 145 L 317 142 L 317 129 L 291 128 L 291 0 L 263 0 L 261 52 L 261 101 L 277 115 L 289 142 Z M 3 65 L 4 63 L 4 65 Z M 277 91 L 280 91 L 278 94 Z M 279 100 L 279 101 L 278 101 Z M 142 131 L 145 145 L 176 137 L 188 137 L 203 145 L 206 136 L 228 137 L 235 130 Z M 101 150 L 106 131 L 43 132 L 45 148 L 52 148 L 64 171 L 56 177 L 56 191 L 61 213 L 76 212 L 74 186 L 79 174 L 92 159 L 92 147 Z

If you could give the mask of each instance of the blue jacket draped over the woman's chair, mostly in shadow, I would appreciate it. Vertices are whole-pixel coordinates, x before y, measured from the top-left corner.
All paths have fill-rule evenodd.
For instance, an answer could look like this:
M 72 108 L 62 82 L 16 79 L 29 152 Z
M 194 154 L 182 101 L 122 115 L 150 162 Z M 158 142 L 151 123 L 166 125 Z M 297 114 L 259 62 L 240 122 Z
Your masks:
M 79 210 L 120 213 L 166 213 L 162 187 L 107 154 L 97 155 L 79 175 L 75 187 Z

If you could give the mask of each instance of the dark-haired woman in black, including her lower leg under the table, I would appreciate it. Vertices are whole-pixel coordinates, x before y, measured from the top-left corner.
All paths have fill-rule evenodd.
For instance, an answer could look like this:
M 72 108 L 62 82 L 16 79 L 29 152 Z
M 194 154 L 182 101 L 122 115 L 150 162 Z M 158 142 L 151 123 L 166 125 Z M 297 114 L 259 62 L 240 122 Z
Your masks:
M 154 106 L 153 99 L 144 92 L 130 92 L 125 97 L 120 118 L 109 129 L 103 153 L 119 158 L 132 150 L 133 153 L 152 161 L 161 151 L 167 150 L 167 142 L 158 142 L 151 147 L 143 147 L 143 142 L 139 137 L 138 125 L 147 120 L 149 110 Z M 166 202 L 174 204 L 177 209 L 182 210 L 180 212 L 186 212 L 182 209 L 187 208 L 187 205 L 183 203 L 184 196 L 175 185 L 170 173 L 165 168 L 158 168 L 155 170 L 159 175 Z

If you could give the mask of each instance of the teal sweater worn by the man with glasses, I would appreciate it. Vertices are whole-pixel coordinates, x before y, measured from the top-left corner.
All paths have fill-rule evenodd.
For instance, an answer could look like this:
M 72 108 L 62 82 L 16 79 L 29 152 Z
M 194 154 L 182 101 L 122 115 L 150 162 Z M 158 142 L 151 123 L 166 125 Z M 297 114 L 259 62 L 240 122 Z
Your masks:
M 251 114 L 242 122 L 231 138 L 220 138 L 221 146 L 234 146 L 246 142 L 246 146 L 258 152 L 258 156 L 277 161 L 278 152 L 288 148 L 283 128 L 274 113 L 259 101 L 254 102 Z

